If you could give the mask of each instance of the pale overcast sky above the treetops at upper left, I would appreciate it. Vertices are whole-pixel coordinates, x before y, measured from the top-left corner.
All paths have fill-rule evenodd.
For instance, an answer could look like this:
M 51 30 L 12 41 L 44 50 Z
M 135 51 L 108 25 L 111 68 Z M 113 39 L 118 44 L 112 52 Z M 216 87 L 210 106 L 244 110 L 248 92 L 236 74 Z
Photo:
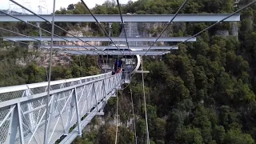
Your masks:
M 89 6 L 90 8 L 94 7 L 96 4 L 102 4 L 106 0 L 84 0 L 86 2 L 86 5 Z M 137 1 L 137 0 L 132 0 L 132 1 Z M 7 10 L 9 6 L 11 7 L 11 10 L 16 10 L 19 12 L 22 12 L 22 9 L 19 8 L 18 6 L 15 6 L 12 2 L 9 2 L 9 0 L 0 0 L 1 5 L 0 5 L 0 10 Z M 39 3 L 41 2 L 41 6 L 46 6 L 48 9 L 48 13 L 52 13 L 53 9 L 53 0 L 15 0 L 15 2 L 18 2 L 20 4 L 23 4 L 23 6 L 26 6 L 33 10 L 34 12 L 38 13 L 38 6 Z M 59 10 L 61 7 L 66 8 L 69 6 L 71 3 L 77 3 L 81 2 L 80 0 L 56 0 L 56 10 Z M 125 4 L 128 2 L 128 0 L 119 0 L 120 3 Z M 47 10 L 42 9 L 42 13 L 46 14 Z

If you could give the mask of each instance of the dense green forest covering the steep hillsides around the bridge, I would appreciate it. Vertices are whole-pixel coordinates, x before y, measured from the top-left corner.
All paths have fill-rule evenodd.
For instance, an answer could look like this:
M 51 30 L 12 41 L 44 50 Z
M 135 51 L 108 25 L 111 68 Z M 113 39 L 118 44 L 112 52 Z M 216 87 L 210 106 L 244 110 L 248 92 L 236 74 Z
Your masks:
M 252 0 L 241 0 L 234 7 L 234 0 L 190 0 L 181 13 L 232 13 Z M 122 5 L 123 14 L 174 14 L 181 6 L 180 0 L 138 0 Z M 114 1 L 107 1 L 92 9 L 94 14 L 118 14 Z M 81 3 L 70 4 L 56 14 L 88 14 Z M 169 36 L 190 36 L 203 30 L 211 23 L 178 23 L 170 26 Z M 256 6 L 242 11 L 238 22 L 238 37 L 219 36 L 216 30 L 231 29 L 232 22 L 222 23 L 206 31 L 194 43 L 179 46 L 179 50 L 160 58 L 143 58 L 146 74 L 146 102 L 150 130 L 150 144 L 164 143 L 234 143 L 253 144 L 256 140 Z M 38 32 L 25 24 L 24 34 Z M 91 28 L 85 35 L 103 35 L 94 23 L 58 23 L 66 30 L 82 26 Z M 1 23 L 0 26 L 8 26 Z M 107 25 L 106 30 L 107 30 Z M 50 30 L 50 26 L 43 26 Z M 163 29 L 163 27 L 161 27 Z M 160 30 L 149 33 L 159 34 Z M 113 35 L 120 34 L 118 23 L 113 25 Z M 56 34 L 65 34 L 57 30 Z M 174 43 L 168 43 L 174 44 Z M 46 69 L 30 61 L 19 66 L 18 58 L 36 57 L 38 50 L 28 51 L 27 46 L 17 43 L 10 46 L 0 42 L 0 86 L 46 81 Z M 2 48 L 4 47 L 4 48 Z M 7 48 L 6 48 L 7 47 Z M 72 57 L 70 66 L 54 66 L 53 79 L 75 78 L 82 75 L 98 74 L 96 58 L 82 56 L 82 72 L 79 58 Z M 136 133 L 138 143 L 146 143 L 146 121 L 143 109 L 142 75 L 135 74 L 125 90 L 119 91 L 118 143 L 135 142 L 134 126 L 127 125 L 131 113 L 130 89 L 134 96 Z M 106 106 L 104 125 L 102 118 L 94 118 L 90 130 L 77 138 L 74 143 L 114 143 L 116 98 Z

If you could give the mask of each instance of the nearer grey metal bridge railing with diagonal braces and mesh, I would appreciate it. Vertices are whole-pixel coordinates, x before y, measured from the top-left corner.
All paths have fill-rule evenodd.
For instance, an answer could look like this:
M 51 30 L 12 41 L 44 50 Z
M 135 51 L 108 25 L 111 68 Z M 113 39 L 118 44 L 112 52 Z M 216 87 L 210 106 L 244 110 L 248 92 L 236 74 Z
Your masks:
M 81 135 L 123 82 L 121 73 L 98 77 L 50 91 L 46 130 L 46 92 L 0 102 L 0 143 L 44 143 L 44 134 L 46 143 L 54 143 L 62 135 Z

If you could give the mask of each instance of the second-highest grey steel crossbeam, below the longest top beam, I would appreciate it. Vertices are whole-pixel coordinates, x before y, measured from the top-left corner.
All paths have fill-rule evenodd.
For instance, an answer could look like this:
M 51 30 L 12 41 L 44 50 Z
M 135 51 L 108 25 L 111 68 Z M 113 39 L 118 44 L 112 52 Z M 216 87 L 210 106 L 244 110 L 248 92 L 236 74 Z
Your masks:
M 31 38 L 26 38 L 26 37 L 2 37 L 5 38 L 4 41 L 36 41 L 34 39 L 41 39 L 42 41 L 50 41 L 50 37 L 32 37 L 34 39 Z M 77 42 L 79 41 L 78 38 L 74 38 L 74 37 L 62 37 L 62 38 L 57 38 L 54 37 L 54 41 L 59 41 L 59 42 L 65 42 L 65 40 L 63 39 L 67 39 L 69 41 L 74 41 Z M 79 37 L 81 38 L 83 41 L 86 42 L 110 42 L 110 38 L 107 37 Z M 189 37 L 167 37 L 167 38 L 159 38 L 158 42 L 183 42 L 185 41 L 187 38 Z M 8 40 L 7 40 L 8 39 Z M 119 37 L 113 37 L 112 38 L 114 42 L 126 42 L 126 38 L 119 38 Z M 155 41 L 155 37 L 150 37 L 150 38 L 143 38 L 143 37 L 138 37 L 138 38 L 128 38 L 128 42 L 154 42 Z M 196 42 L 197 38 L 191 38 L 188 42 Z

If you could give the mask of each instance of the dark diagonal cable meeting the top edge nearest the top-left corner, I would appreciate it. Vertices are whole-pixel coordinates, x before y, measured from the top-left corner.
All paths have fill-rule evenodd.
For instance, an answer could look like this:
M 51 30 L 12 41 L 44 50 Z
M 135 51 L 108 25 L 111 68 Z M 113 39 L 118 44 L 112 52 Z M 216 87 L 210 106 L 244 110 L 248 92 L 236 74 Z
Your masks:
M 46 22 L 52 24 L 52 22 L 48 21 L 46 18 L 42 18 L 42 16 L 40 16 L 40 15 L 34 13 L 32 10 L 29 10 L 29 9 L 26 8 L 25 6 L 22 6 L 21 4 L 19 4 L 18 2 L 15 2 L 14 0 L 10 0 L 10 2 L 14 2 L 14 4 L 16 4 L 16 5 L 20 6 L 20 7 L 22 7 L 23 9 L 29 11 L 30 13 L 34 14 L 34 15 L 37 16 L 38 18 L 41 18 L 42 20 L 44 20 L 44 21 L 46 21 Z M 54 26 L 58 27 L 58 29 L 60 29 L 60 30 L 65 31 L 67 34 L 72 35 L 74 38 L 78 38 L 78 37 L 75 36 L 74 34 L 71 34 L 71 33 L 68 32 L 67 30 L 63 29 L 62 27 L 60 27 L 60 26 L 58 26 L 58 25 L 56 25 L 56 24 L 54 24 Z M 85 42 L 84 40 L 82 40 L 82 38 L 78 38 L 78 39 L 79 39 L 80 41 L 82 41 L 82 42 L 88 44 L 89 46 L 94 47 L 94 49 L 99 50 L 96 46 L 93 46 L 93 45 L 91 45 L 89 42 Z M 99 51 L 102 51 L 102 52 L 106 53 L 104 50 L 99 50 Z

